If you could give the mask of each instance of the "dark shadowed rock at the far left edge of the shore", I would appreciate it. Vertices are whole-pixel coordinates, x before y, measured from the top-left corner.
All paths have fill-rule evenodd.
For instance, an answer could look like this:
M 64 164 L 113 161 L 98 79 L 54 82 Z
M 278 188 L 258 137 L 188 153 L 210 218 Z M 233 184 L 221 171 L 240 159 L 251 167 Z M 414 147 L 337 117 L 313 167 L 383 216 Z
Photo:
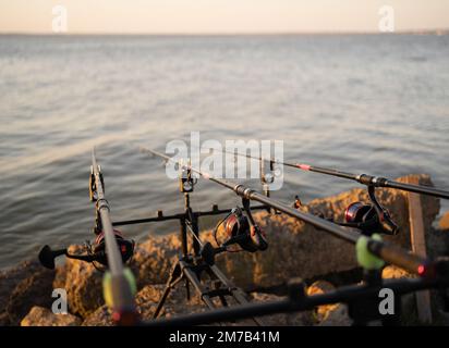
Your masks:
M 0 323 L 19 325 L 33 306 L 49 307 L 52 302 L 54 271 L 37 261 L 26 261 L 0 274 Z

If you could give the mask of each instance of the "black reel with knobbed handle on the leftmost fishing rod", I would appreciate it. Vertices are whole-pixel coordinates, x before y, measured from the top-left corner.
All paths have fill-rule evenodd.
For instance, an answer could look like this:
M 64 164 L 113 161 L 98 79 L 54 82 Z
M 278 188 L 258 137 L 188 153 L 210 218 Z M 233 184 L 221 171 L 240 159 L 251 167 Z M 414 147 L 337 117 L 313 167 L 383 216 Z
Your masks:
M 128 262 L 134 253 L 135 243 L 134 240 L 128 240 L 123 238 L 120 231 L 113 231 L 119 251 L 122 257 L 123 263 Z M 108 260 L 106 254 L 105 233 L 100 233 L 95 238 L 94 244 L 86 243 L 84 254 L 69 253 L 68 249 L 52 250 L 49 246 L 45 246 L 38 256 L 39 262 L 47 269 L 54 270 L 54 259 L 60 256 L 65 256 L 68 259 L 81 260 L 92 262 L 94 266 L 104 271 L 108 266 Z

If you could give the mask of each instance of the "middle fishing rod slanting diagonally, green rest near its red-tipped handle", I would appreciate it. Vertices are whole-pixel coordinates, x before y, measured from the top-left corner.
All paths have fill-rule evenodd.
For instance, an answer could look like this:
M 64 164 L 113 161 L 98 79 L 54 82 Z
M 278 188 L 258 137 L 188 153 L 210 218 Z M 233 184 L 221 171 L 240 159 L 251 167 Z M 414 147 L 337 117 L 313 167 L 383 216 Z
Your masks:
M 166 163 L 172 162 L 182 169 L 187 169 L 198 174 L 203 178 L 206 178 L 213 183 L 216 183 L 220 186 L 231 189 L 238 196 L 244 199 L 258 201 L 267 207 L 271 207 L 290 216 L 304 221 L 305 223 L 312 224 L 313 226 L 319 229 L 323 229 L 324 232 L 327 232 L 340 239 L 354 244 L 356 246 L 356 251 L 357 251 L 356 253 L 357 253 L 359 262 L 361 264 L 371 263 L 368 268 L 376 268 L 373 265 L 373 262 L 369 262 L 369 261 L 367 263 L 365 262 L 367 259 L 371 259 L 371 261 L 373 261 L 374 259 L 374 260 L 377 260 L 377 261 L 374 261 L 374 264 L 379 264 L 379 263 L 383 264 L 383 261 L 385 261 L 387 263 L 395 264 L 412 274 L 417 274 L 421 277 L 427 277 L 427 276 L 433 277 L 437 273 L 439 273 L 438 271 L 440 268 L 439 268 L 438 261 L 433 262 L 426 258 L 421 258 L 416 254 L 410 253 L 398 246 L 381 241 L 378 235 L 373 235 L 372 237 L 363 236 L 353 228 L 342 227 L 325 219 L 320 219 L 318 216 L 301 212 L 284 203 L 281 203 L 269 197 L 260 195 L 257 191 L 248 187 L 245 187 L 244 185 L 233 184 L 226 179 L 214 177 L 210 174 L 206 172 L 202 172 L 193 167 L 190 164 L 184 164 L 184 163 L 174 161 L 168 156 L 160 153 L 158 151 L 150 150 L 150 149 L 143 148 L 143 147 L 141 147 L 141 149 L 144 150 L 145 152 L 151 153 L 154 156 L 157 156 L 163 159 Z

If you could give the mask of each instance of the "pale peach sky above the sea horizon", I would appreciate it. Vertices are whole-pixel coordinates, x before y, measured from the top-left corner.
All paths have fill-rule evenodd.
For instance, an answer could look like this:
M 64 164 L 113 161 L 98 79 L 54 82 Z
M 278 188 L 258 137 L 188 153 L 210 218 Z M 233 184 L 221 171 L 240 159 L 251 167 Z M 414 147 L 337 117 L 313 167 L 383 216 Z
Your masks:
M 68 34 L 395 32 L 449 28 L 449 0 L 0 0 L 0 33 L 53 33 L 56 5 Z M 60 12 L 59 12 L 60 13 Z

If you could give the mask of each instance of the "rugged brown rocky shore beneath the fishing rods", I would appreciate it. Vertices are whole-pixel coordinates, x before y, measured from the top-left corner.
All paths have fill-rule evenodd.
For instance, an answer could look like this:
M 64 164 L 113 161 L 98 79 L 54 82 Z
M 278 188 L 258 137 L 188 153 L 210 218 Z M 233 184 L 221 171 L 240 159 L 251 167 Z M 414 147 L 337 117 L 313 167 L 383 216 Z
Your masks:
M 432 185 L 427 175 L 414 175 L 423 185 Z M 405 178 L 400 178 L 404 181 Z M 379 189 L 379 201 L 390 210 L 401 227 L 391 241 L 410 248 L 408 194 Z M 344 209 L 354 201 L 367 201 L 363 188 L 340 195 L 316 199 L 302 208 L 305 212 L 323 213 L 326 217 L 343 220 Z M 432 256 L 449 254 L 449 214 L 441 217 L 439 226 L 435 219 L 439 213 L 439 200 L 422 196 L 427 252 Z M 253 301 L 267 301 L 284 296 L 286 281 L 291 277 L 305 279 L 308 294 L 326 293 L 343 284 L 360 282 L 361 271 L 355 261 L 354 247 L 329 236 L 323 231 L 306 225 L 283 214 L 255 214 L 265 229 L 270 246 L 265 252 L 227 253 L 217 260 L 217 265 L 240 287 L 247 290 Z M 202 233 L 203 239 L 211 240 L 210 232 Z M 71 246 L 75 252 L 80 246 Z M 149 320 L 163 289 L 172 262 L 180 250 L 178 235 L 151 237 L 136 247 L 130 266 L 136 276 L 138 293 L 137 309 L 143 319 Z M 385 277 L 410 276 L 401 270 L 388 266 Z M 101 293 L 102 274 L 93 265 L 68 260 L 63 266 L 49 271 L 37 260 L 25 261 L 16 268 L 0 273 L 0 325 L 111 325 L 110 313 L 104 304 Z M 70 314 L 51 312 L 53 288 L 68 291 Z M 404 297 L 406 322 L 416 323 L 413 295 Z M 433 298 L 433 301 L 438 301 Z M 201 299 L 193 296 L 187 302 L 185 289 L 177 287 L 170 295 L 162 315 L 204 311 Z M 436 321 L 441 322 L 434 311 Z M 442 314 L 441 314 L 442 315 Z M 277 314 L 265 319 L 271 325 L 348 325 L 345 306 L 335 304 L 314 312 Z M 238 324 L 251 324 L 239 322 Z

